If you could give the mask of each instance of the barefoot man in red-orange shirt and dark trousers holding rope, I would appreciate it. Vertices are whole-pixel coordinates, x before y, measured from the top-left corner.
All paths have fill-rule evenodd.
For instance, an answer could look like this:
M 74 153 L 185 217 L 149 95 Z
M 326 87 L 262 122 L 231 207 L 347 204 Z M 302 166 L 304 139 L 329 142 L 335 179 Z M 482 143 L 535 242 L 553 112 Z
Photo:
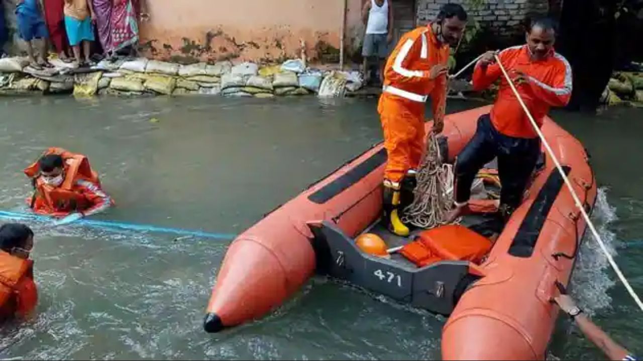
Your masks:
M 554 51 L 556 30 L 547 18 L 532 21 L 527 44 L 500 52 L 498 58 L 512 77 L 527 109 L 539 126 L 550 107 L 563 107 L 572 94 L 572 68 Z M 471 184 L 484 164 L 498 158 L 500 212 L 505 220 L 520 206 L 522 196 L 540 155 L 540 139 L 529 118 L 495 64 L 496 52 L 490 51 L 476 64 L 473 88 L 485 89 L 500 78 L 498 98 L 491 114 L 478 119 L 471 141 L 458 155 L 455 164 L 455 209 L 453 221 L 466 211 Z

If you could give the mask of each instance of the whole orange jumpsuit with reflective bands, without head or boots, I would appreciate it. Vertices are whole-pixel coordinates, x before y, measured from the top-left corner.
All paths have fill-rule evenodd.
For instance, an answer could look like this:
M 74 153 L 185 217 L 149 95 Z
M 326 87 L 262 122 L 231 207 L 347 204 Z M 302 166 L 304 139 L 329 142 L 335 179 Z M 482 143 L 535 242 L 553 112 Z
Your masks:
M 432 80 L 433 66 L 447 65 L 449 45 L 440 43 L 430 26 L 412 30 L 400 39 L 386 62 L 379 112 L 388 162 L 385 180 L 395 186 L 406 172 L 420 165 L 424 153 L 424 108 L 433 98 L 433 116 L 444 117 L 446 75 Z

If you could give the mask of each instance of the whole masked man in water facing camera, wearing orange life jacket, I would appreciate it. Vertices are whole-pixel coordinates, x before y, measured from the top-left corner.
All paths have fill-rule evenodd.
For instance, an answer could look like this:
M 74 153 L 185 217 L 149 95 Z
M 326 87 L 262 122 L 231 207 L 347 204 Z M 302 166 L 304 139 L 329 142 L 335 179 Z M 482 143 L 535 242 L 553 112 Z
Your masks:
M 50 148 L 24 173 L 33 182 L 30 207 L 41 215 L 62 217 L 59 225 L 95 215 L 114 204 L 84 155 Z

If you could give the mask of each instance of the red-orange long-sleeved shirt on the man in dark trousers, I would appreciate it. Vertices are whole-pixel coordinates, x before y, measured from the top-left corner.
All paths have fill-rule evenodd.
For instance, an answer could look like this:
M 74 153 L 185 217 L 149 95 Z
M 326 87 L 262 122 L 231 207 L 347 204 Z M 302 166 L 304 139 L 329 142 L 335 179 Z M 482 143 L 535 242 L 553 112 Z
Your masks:
M 504 49 L 498 57 L 509 76 L 512 76 L 512 70 L 527 75 L 528 82 L 516 84 L 516 89 L 539 126 L 542 126 L 550 107 L 563 107 L 569 102 L 572 67 L 562 55 L 552 51 L 545 59 L 534 61 L 529 55 L 529 48 L 523 45 Z M 498 64 L 491 64 L 483 70 L 478 63 L 473 72 L 473 89 L 481 91 L 498 78 L 500 90 L 491 110 L 491 121 L 496 130 L 505 136 L 538 137 Z

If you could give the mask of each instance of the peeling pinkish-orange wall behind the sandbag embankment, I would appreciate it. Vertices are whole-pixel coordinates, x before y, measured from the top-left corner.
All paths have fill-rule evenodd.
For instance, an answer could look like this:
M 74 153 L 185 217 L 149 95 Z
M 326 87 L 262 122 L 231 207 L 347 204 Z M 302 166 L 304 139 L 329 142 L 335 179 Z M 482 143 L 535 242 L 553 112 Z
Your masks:
M 361 24 L 361 1 L 347 0 L 346 39 Z M 298 57 L 303 39 L 314 58 L 320 41 L 339 48 L 342 6 L 343 0 L 147 0 L 141 45 L 155 58 L 270 61 Z

